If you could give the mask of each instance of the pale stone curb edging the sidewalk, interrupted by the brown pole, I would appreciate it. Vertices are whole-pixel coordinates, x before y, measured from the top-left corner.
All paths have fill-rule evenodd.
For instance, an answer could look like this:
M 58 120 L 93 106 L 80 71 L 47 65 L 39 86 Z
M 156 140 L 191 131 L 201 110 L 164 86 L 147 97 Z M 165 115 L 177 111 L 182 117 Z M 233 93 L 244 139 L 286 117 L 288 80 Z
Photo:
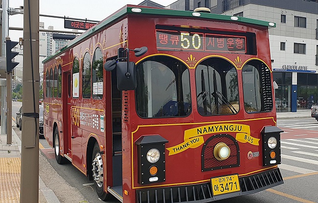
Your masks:
M 19 151 L 20 151 L 20 154 L 21 154 L 22 142 L 21 142 L 20 138 L 18 137 L 18 135 L 16 134 L 16 132 L 13 129 L 12 129 L 12 136 L 14 137 L 14 139 L 16 140 L 16 142 L 18 144 Z M 43 180 L 41 179 L 40 175 L 39 175 L 39 189 L 41 190 L 43 196 L 45 197 L 46 203 L 60 203 L 59 199 L 56 197 L 56 195 L 53 192 L 53 190 L 51 190 L 48 187 L 46 187 L 46 185 L 43 182 Z

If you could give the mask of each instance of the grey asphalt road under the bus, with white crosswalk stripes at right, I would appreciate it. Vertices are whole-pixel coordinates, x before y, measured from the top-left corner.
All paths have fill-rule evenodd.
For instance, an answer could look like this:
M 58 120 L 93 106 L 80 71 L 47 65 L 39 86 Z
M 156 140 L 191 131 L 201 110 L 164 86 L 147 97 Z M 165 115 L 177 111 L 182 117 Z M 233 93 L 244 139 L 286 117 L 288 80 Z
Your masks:
M 217 203 L 318 203 L 318 122 L 313 118 L 284 119 L 278 120 L 277 126 L 284 130 L 281 135 L 282 164 L 279 167 L 285 183 Z M 14 130 L 21 137 L 21 131 L 16 127 Z M 71 163 L 57 164 L 54 151 L 46 140 L 40 139 L 40 143 L 43 146 L 40 145 L 43 148 L 40 149 L 40 176 L 61 203 L 102 202 L 85 175 Z M 47 175 L 47 171 L 52 175 Z M 119 203 L 117 200 L 109 202 Z

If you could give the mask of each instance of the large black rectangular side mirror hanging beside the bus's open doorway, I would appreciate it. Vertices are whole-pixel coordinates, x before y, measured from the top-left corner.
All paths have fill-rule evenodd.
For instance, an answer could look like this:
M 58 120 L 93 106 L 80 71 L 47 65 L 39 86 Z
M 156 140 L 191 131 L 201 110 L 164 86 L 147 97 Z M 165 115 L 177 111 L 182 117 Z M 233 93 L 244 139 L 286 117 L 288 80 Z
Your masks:
M 129 79 L 126 76 L 127 62 L 117 63 L 117 89 L 118 90 L 135 90 L 137 87 L 136 68 L 134 62 L 129 62 Z

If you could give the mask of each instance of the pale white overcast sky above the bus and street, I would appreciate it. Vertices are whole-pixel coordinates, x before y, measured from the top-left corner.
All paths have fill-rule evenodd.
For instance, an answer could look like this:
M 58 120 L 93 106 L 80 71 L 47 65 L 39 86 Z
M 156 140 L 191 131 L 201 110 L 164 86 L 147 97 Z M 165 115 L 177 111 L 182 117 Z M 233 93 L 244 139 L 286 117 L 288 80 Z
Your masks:
M 66 16 L 78 19 L 102 21 L 126 4 L 139 4 L 143 0 L 39 0 L 40 14 Z M 152 0 L 163 6 L 170 5 L 176 0 Z M 9 0 L 9 8 L 19 8 L 24 0 Z M 64 19 L 40 17 L 44 27 L 54 26 L 54 30 L 69 30 L 64 28 Z M 23 27 L 23 15 L 9 16 L 10 27 Z M 19 41 L 23 31 L 9 30 L 12 41 Z

